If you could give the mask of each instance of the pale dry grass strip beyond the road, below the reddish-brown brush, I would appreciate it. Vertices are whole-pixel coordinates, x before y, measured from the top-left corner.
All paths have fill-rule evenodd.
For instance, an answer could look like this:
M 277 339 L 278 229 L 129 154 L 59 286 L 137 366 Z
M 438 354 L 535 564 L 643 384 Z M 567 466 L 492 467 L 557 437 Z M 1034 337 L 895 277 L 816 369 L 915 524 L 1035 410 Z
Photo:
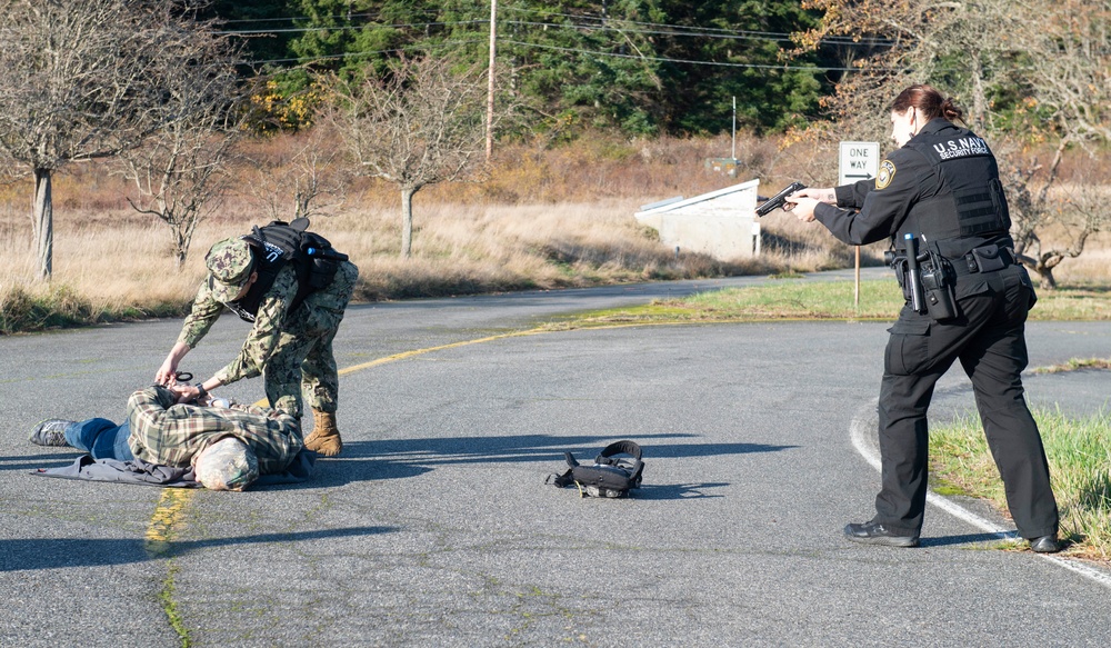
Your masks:
M 360 267 L 358 297 L 368 300 L 763 272 L 783 265 L 774 258 L 721 263 L 699 255 L 677 260 L 631 217 L 635 207 L 628 200 L 418 203 L 413 257 L 408 260 L 398 257 L 400 230 L 392 207 L 318 219 L 313 228 Z M 56 219 L 53 289 L 66 287 L 86 297 L 94 311 L 184 302 L 203 277 L 204 250 L 256 222 L 241 213 L 204 222 L 179 272 L 161 223 L 136 221 L 126 211 L 101 221 L 71 212 Z M 22 287 L 44 293 L 47 287 L 30 280 L 36 268 L 28 249 L 30 227 L 13 229 L 19 236 L 0 241 L 0 253 L 9 260 L 0 269 L 0 286 L 6 292 Z

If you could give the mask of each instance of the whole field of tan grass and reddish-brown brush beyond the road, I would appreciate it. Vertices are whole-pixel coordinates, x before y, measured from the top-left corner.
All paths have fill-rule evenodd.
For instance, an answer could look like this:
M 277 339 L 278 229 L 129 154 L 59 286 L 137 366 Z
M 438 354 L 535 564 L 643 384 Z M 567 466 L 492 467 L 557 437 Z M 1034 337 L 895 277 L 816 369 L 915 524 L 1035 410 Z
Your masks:
M 664 198 L 753 177 L 761 178 L 762 193 L 771 193 L 813 173 L 808 170 L 813 160 L 800 165 L 797 151 L 780 150 L 773 141 L 748 138 L 742 144 L 737 178 L 704 166 L 705 158 L 728 156 L 728 138 L 628 142 L 599 137 L 554 150 L 504 149 L 488 181 L 436 186 L 416 196 L 413 256 L 404 260 L 399 258 L 400 197 L 386 182 L 351 180 L 343 203 L 334 215 L 314 218 L 313 230 L 360 267 L 358 300 L 851 267 L 850 247 L 820 225 L 799 223 L 783 212 L 762 219 L 764 255 L 737 262 L 689 253 L 677 259 L 653 230 L 635 221 L 632 215 L 641 205 Z M 251 147 L 256 159 L 281 173 L 298 141 L 278 138 Z M 209 246 L 266 223 L 244 187 L 258 171 L 240 167 L 234 173 L 241 190 L 201 223 L 178 271 L 169 228 L 134 212 L 126 201 L 129 188 L 108 171 L 106 165 L 71 165 L 56 177 L 49 285 L 34 280 L 31 182 L 0 185 L 0 309 L 13 296 L 59 292 L 93 312 L 183 308 L 203 276 Z M 865 263 L 875 265 L 881 256 L 882 246 L 864 250 Z M 1062 263 L 1057 278 L 1111 282 L 1105 235 L 1090 241 L 1081 258 Z

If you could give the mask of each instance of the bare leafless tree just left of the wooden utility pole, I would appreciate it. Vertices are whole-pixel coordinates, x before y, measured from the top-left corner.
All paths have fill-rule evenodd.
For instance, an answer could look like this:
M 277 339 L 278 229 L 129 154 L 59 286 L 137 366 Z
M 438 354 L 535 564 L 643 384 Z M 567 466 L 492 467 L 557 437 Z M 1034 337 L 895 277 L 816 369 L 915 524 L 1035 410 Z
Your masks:
M 481 69 L 457 74 L 443 58 L 403 59 L 384 79 L 336 79 L 333 87 L 337 108 L 326 120 L 359 172 L 401 190 L 401 257 L 408 258 L 413 195 L 439 182 L 481 178 L 486 170 Z

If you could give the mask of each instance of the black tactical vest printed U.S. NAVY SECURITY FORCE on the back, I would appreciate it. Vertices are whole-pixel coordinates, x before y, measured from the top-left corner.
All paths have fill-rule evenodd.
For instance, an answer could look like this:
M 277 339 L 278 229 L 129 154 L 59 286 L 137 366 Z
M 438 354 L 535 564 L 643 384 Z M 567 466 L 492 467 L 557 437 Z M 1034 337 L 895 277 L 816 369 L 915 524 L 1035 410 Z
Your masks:
M 943 127 L 920 132 L 908 143 L 924 156 L 942 180 L 942 191 L 911 210 L 897 240 L 907 232 L 935 241 L 945 256 L 1009 236 L 1011 218 L 988 143 L 968 129 Z M 967 243 L 962 245 L 963 241 Z M 962 251 L 963 250 L 963 251 Z

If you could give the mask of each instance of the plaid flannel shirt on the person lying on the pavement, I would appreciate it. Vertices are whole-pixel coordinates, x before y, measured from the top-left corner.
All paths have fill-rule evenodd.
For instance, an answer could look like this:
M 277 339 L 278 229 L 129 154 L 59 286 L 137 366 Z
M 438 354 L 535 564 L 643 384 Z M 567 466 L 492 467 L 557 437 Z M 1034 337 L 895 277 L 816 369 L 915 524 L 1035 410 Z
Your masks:
M 163 387 L 140 389 L 128 399 L 128 445 L 148 463 L 189 466 L 196 455 L 224 437 L 247 443 L 259 459 L 259 473 L 284 470 L 301 449 L 297 419 L 270 408 L 174 405 Z

